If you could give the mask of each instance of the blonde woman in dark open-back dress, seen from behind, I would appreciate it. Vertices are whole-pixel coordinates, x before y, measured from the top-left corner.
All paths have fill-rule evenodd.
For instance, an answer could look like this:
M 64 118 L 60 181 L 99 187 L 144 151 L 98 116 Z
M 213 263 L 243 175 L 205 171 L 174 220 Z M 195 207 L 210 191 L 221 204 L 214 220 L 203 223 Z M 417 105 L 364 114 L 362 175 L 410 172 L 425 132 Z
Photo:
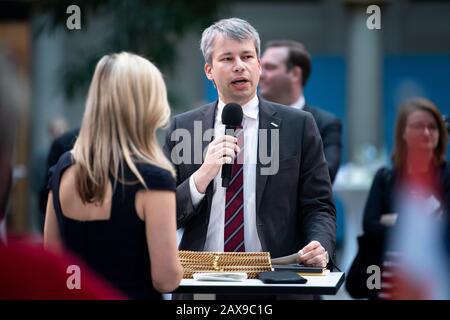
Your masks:
M 104 56 L 75 146 L 51 170 L 45 246 L 75 252 L 131 298 L 160 299 L 182 277 L 174 170 L 156 139 L 169 117 L 151 62 Z

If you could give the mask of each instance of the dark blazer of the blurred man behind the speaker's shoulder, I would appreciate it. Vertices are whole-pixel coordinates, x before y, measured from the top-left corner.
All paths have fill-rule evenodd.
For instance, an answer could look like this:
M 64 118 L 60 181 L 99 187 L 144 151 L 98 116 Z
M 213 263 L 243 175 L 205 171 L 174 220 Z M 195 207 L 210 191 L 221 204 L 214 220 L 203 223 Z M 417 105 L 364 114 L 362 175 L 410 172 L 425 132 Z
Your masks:
M 341 163 L 342 153 L 342 124 L 332 113 L 309 105 L 303 107 L 304 111 L 310 112 L 316 120 L 320 136 L 323 142 L 323 152 L 328 164 L 331 183 L 333 184 Z

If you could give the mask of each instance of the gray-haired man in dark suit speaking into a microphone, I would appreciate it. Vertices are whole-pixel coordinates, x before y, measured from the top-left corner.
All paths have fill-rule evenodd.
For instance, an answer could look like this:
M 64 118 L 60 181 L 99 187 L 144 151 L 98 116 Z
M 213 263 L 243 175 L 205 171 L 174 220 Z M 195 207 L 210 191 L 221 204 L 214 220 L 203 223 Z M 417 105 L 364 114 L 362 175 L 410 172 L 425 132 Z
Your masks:
M 174 117 L 165 144 L 177 172 L 180 249 L 269 251 L 273 258 L 298 252 L 298 262 L 325 267 L 335 208 L 313 117 L 256 95 L 260 40 L 248 22 L 216 22 L 203 32 L 201 49 L 219 99 Z M 244 144 L 224 135 L 221 113 L 231 102 L 243 109 Z M 223 188 L 222 165 L 232 162 Z

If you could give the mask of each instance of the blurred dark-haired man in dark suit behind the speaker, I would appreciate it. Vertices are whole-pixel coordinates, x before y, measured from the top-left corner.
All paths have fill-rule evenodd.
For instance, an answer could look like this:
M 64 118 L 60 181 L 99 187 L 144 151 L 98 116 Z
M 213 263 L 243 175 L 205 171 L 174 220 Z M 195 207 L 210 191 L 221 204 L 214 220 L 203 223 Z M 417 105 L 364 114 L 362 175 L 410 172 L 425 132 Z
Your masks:
M 331 182 L 341 161 L 341 121 L 333 114 L 306 104 L 303 88 L 311 73 L 311 58 L 305 46 L 292 40 L 274 40 L 261 58 L 261 95 L 269 101 L 310 112 L 322 137 Z

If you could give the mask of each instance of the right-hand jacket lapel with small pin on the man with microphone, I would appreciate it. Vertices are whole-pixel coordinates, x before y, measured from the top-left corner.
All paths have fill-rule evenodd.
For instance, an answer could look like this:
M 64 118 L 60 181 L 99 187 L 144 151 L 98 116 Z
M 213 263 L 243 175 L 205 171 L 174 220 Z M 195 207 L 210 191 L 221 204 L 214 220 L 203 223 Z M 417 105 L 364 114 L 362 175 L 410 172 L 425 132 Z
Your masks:
M 261 205 L 262 196 L 264 194 L 264 188 L 266 187 L 267 175 L 261 175 L 261 168 L 268 166 L 261 163 L 260 159 L 260 132 L 261 129 L 266 129 L 267 134 L 267 152 L 263 150 L 263 155 L 266 156 L 272 154 L 272 141 L 270 130 L 281 128 L 281 119 L 275 117 L 276 111 L 272 106 L 261 97 L 259 98 L 259 130 L 258 130 L 258 154 L 257 154 L 257 164 L 256 164 L 256 213 L 259 213 L 259 207 Z M 269 163 L 270 165 L 270 163 Z

